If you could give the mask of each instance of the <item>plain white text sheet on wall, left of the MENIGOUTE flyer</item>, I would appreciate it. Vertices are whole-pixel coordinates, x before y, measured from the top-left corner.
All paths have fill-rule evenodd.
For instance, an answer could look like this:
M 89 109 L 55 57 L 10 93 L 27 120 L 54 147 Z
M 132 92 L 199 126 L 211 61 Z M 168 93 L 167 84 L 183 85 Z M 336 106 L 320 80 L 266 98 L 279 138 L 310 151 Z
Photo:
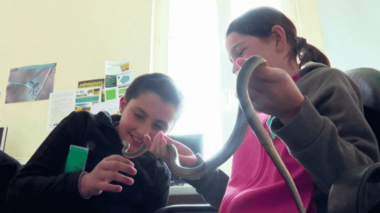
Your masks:
M 63 118 L 74 111 L 77 90 L 50 93 L 46 130 L 51 131 Z

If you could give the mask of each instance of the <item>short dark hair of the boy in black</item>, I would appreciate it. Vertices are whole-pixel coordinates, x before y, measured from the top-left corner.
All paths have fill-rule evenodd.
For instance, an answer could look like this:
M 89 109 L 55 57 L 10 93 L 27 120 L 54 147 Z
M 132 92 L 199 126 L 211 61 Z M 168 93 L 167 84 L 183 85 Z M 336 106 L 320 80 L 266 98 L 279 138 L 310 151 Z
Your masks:
M 125 97 L 129 102 L 131 99 L 139 98 L 141 94 L 146 92 L 153 92 L 161 97 L 164 102 L 173 104 L 177 109 L 174 122 L 177 121 L 182 110 L 183 95 L 169 75 L 163 73 L 140 75 L 127 88 Z

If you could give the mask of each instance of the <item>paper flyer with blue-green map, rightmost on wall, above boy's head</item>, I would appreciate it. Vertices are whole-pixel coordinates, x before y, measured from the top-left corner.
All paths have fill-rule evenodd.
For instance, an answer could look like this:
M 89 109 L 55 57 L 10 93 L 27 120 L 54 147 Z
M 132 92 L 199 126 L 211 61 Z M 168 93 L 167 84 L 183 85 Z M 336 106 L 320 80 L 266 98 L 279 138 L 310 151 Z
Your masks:
M 129 61 L 105 62 L 105 101 L 120 99 L 132 82 Z

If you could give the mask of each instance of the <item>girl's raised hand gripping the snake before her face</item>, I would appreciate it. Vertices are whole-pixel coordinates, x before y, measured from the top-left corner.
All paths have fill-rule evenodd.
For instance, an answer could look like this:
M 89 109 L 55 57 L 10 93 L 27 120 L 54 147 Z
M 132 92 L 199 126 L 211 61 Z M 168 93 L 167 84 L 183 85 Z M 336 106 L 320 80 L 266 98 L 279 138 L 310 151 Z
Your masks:
M 236 61 L 239 67 L 246 61 Z M 299 112 L 305 98 L 291 76 L 279 68 L 260 65 L 248 82 L 248 94 L 256 111 L 278 117 L 285 125 Z

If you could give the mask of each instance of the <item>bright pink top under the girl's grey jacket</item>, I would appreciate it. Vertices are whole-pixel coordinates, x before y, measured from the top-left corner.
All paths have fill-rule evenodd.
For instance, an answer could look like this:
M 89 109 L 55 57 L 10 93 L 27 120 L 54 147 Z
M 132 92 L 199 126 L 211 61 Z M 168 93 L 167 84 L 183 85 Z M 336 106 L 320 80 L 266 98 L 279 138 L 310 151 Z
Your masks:
M 297 81 L 299 75 L 293 76 Z M 258 112 L 261 123 L 267 125 L 270 115 Z M 272 138 L 272 137 L 271 137 Z M 308 213 L 316 213 L 313 200 L 313 180 L 308 172 L 289 154 L 284 142 L 276 137 L 273 143 L 297 186 Z M 232 172 L 220 213 L 298 213 L 293 196 L 284 178 L 248 127 L 244 141 L 235 152 Z

